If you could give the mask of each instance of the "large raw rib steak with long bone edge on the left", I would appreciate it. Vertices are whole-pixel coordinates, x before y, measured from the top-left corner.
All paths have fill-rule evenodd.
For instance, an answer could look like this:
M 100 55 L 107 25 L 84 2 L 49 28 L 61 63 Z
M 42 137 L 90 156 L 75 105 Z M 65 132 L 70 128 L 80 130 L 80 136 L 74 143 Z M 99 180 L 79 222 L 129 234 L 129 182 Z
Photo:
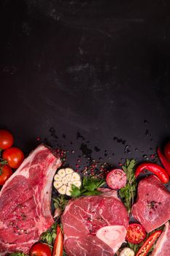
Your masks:
M 27 253 L 53 224 L 51 191 L 61 160 L 38 146 L 12 174 L 0 192 L 0 255 Z

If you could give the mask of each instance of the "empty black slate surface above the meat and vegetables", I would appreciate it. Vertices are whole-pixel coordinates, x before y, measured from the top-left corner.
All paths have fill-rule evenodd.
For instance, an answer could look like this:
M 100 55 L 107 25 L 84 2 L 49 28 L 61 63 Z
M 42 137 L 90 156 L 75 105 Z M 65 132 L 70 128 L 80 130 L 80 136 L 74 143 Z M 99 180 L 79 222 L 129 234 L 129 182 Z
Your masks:
M 87 148 L 117 165 L 163 146 L 170 1 L 0 3 L 0 124 L 15 145 L 28 153 L 40 138 L 68 149 L 73 166 Z

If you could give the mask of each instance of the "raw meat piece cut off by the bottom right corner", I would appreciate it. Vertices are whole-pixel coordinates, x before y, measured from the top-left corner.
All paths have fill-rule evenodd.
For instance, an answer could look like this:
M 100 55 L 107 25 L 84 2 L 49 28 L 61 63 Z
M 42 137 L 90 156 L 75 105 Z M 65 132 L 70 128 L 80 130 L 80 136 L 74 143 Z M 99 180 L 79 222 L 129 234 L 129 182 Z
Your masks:
M 166 226 L 158 238 L 152 256 L 168 256 L 170 252 L 170 225 L 166 222 Z

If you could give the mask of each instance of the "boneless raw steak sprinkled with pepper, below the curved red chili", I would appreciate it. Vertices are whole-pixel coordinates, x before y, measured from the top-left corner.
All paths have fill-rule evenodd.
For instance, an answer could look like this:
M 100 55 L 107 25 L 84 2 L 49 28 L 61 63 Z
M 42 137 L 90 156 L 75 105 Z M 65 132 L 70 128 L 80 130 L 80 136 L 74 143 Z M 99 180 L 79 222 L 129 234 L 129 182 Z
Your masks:
M 147 233 L 161 227 L 170 219 L 170 192 L 157 177 L 148 176 L 139 182 L 132 215 Z

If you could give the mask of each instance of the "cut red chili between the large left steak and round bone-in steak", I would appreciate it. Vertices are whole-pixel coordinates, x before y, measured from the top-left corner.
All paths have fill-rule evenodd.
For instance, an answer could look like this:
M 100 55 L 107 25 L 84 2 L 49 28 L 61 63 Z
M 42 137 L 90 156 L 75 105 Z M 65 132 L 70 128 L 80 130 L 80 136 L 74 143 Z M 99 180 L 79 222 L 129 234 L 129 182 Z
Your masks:
M 62 256 L 63 255 L 63 234 L 61 232 L 61 228 L 57 226 L 54 248 L 53 248 L 53 256 Z

